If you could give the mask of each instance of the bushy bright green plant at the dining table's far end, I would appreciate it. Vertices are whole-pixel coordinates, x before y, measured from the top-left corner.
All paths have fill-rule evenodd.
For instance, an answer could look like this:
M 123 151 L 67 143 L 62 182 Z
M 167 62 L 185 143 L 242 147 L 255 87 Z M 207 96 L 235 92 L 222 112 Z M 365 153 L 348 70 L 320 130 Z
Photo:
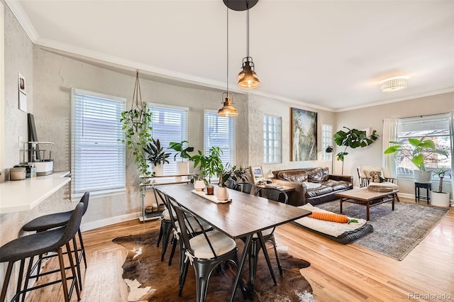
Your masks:
M 198 150 L 197 154 L 191 157 L 194 162 L 194 169 L 199 168 L 199 178 L 204 179 L 206 184 L 211 182 L 211 177 L 218 176 L 223 172 L 222 153 L 220 147 L 213 146 L 210 148 L 208 155 L 204 155 L 201 150 Z M 206 177 L 208 177 L 209 181 L 206 181 Z

